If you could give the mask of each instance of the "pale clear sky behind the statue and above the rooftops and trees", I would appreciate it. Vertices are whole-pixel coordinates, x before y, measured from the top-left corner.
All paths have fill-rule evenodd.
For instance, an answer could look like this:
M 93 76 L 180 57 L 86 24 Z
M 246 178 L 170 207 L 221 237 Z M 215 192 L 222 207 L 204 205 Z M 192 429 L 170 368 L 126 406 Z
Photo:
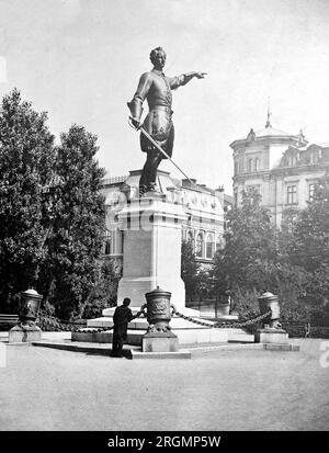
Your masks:
M 57 140 L 83 125 L 107 177 L 128 174 L 145 155 L 126 102 L 161 46 L 166 75 L 207 72 L 173 92 L 173 159 L 231 194 L 229 144 L 264 127 L 269 98 L 273 127 L 329 141 L 328 23 L 328 0 L 0 0 L 0 97 L 16 87 Z

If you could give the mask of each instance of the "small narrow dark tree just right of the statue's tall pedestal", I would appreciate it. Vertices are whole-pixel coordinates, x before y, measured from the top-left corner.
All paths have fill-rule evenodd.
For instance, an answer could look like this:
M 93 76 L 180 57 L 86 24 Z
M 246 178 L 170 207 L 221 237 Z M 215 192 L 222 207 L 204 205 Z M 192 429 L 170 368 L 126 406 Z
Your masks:
M 191 240 L 182 241 L 181 278 L 185 283 L 186 299 L 192 301 L 196 293 L 200 265 Z

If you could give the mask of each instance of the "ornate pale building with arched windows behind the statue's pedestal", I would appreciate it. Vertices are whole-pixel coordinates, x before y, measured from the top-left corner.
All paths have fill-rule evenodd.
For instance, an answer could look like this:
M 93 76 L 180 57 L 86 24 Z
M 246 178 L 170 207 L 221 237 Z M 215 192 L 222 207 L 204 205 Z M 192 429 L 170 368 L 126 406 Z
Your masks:
M 116 214 L 137 193 L 140 172 L 135 170 L 128 175 L 107 179 L 103 185 L 106 206 L 104 254 L 118 262 L 123 256 L 123 234 Z M 224 211 L 232 206 L 232 197 L 224 194 L 224 188 L 213 190 L 205 184 L 196 184 L 196 180 L 192 180 L 193 183 L 177 180 L 166 171 L 158 170 L 157 179 L 166 197 L 181 203 L 188 214 L 182 239 L 193 244 L 198 262 L 212 262 L 215 251 L 223 247 Z

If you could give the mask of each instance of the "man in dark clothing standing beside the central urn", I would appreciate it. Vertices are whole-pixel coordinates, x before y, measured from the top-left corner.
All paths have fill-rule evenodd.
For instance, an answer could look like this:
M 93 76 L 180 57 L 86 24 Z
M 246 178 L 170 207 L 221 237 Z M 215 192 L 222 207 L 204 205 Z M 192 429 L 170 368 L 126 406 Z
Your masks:
M 129 308 L 129 304 L 131 299 L 126 297 L 123 302 L 123 305 L 120 305 L 115 308 L 113 315 L 114 329 L 112 340 L 112 354 L 115 356 L 123 356 L 122 349 L 124 341 L 126 341 L 127 339 L 128 322 L 131 322 L 132 319 L 140 316 L 140 312 L 138 312 L 136 316 L 133 315 L 133 312 Z

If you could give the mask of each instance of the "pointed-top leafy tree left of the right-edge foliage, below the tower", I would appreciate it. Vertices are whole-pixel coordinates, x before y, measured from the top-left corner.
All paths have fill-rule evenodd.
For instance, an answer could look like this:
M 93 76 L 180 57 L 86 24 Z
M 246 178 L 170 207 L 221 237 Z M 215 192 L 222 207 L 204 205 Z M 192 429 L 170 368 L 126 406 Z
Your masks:
M 284 304 L 296 303 L 308 275 L 280 248 L 279 231 L 260 201 L 254 190 L 242 193 L 242 206 L 227 214 L 225 247 L 214 262 L 217 293 L 230 290 L 235 308 L 245 316 L 259 312 L 257 299 L 265 291 Z

